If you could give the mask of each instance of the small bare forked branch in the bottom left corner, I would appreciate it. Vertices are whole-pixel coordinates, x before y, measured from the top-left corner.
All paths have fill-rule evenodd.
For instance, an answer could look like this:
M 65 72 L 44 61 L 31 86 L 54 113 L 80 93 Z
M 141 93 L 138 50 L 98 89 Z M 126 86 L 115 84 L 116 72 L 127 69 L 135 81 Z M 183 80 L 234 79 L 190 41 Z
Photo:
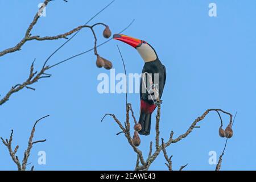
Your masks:
M 49 117 L 49 115 L 46 115 L 45 117 L 42 117 L 42 118 L 38 119 L 38 121 L 36 121 L 34 126 L 32 127 L 30 138 L 28 139 L 27 150 L 24 152 L 24 157 L 23 157 L 23 160 L 22 160 L 22 164 L 20 163 L 18 156 L 15 156 L 16 152 L 18 151 L 19 146 L 16 146 L 14 151 L 13 151 L 13 148 L 11 147 L 11 143 L 13 142 L 13 130 L 11 130 L 11 135 L 10 135 L 9 140 L 8 139 L 4 140 L 1 137 L 1 140 L 2 140 L 3 144 L 8 148 L 11 159 L 13 159 L 13 162 L 16 164 L 19 171 L 25 171 L 26 170 L 27 160 L 28 160 L 28 157 L 30 156 L 30 151 L 32 149 L 33 144 L 40 143 L 40 142 L 46 142 L 46 139 L 37 140 L 37 141 L 33 142 L 33 138 L 34 138 L 36 124 L 39 121 L 41 121 L 42 119 L 47 118 L 47 117 Z M 34 170 L 34 166 L 32 166 L 32 168 L 31 168 L 31 171 L 33 171 L 33 170 Z

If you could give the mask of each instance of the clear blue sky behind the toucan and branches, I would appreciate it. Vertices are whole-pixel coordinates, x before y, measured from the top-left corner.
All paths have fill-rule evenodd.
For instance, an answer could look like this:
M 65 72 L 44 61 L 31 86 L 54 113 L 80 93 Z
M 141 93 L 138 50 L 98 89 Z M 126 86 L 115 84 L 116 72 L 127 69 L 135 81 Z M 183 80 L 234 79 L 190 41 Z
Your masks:
M 14 46 L 23 38 L 42 1 L 0 1 L 0 50 Z M 39 19 L 33 35 L 56 35 L 84 24 L 109 1 L 52 1 L 47 16 Z M 217 4 L 217 17 L 209 17 L 208 5 Z M 256 169 L 256 1 L 120 1 L 117 0 L 91 23 L 103 22 L 119 32 L 135 19 L 124 33 L 146 40 L 166 66 L 167 82 L 163 93 L 160 136 L 168 139 L 183 134 L 191 123 L 210 108 L 237 113 L 234 136 L 222 162 L 222 170 Z M 104 42 L 101 27 L 98 42 Z M 32 60 L 40 69 L 44 60 L 63 40 L 27 42 L 22 51 L 0 57 L 0 98 L 11 86 L 26 80 Z M 112 60 L 115 72 L 123 73 L 119 45 L 128 73 L 141 73 L 143 61 L 137 51 L 112 40 L 98 48 L 100 55 Z M 49 61 L 57 63 L 93 47 L 90 30 L 82 30 Z M 36 119 L 50 114 L 36 128 L 35 139 L 47 139 L 32 148 L 31 165 L 36 170 L 123 170 L 134 169 L 137 156 L 112 118 L 100 122 L 105 113 L 125 119 L 125 94 L 99 94 L 97 76 L 107 73 L 95 65 L 93 52 L 76 57 L 48 71 L 51 78 L 33 85 L 36 91 L 22 90 L 0 106 L 0 136 L 7 138 L 14 129 L 13 144 L 19 144 L 23 157 L 31 127 Z M 135 116 L 139 117 L 139 94 L 129 94 Z M 155 115 L 155 113 L 154 113 Z M 154 118 L 154 116 L 152 117 Z M 228 117 L 224 117 L 224 128 Z M 139 148 L 148 154 L 155 138 L 142 136 Z M 187 170 L 213 170 L 209 151 L 221 154 L 225 139 L 218 137 L 218 115 L 210 113 L 189 137 L 167 148 L 173 167 L 189 163 Z M 38 164 L 38 152 L 46 152 L 46 165 Z M 7 148 L 0 145 L 0 170 L 16 169 Z M 166 170 L 163 154 L 150 169 Z

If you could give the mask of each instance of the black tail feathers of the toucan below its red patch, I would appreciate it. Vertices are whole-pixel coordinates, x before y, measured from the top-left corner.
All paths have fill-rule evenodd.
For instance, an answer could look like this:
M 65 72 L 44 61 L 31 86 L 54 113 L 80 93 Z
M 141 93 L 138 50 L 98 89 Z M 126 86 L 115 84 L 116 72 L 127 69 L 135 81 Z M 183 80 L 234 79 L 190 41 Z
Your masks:
M 139 116 L 139 123 L 142 127 L 141 131 L 139 131 L 139 134 L 149 135 L 151 125 L 151 113 L 144 113 L 143 111 L 141 111 L 141 115 Z

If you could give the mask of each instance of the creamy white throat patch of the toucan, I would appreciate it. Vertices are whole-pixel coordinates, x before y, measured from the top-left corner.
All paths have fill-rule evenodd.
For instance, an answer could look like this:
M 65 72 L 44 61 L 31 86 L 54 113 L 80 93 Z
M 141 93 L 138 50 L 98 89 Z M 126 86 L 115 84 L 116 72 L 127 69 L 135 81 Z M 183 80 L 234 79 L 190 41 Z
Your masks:
M 156 60 L 156 54 L 154 49 L 152 49 L 148 44 L 142 44 L 140 47 L 136 48 L 142 59 L 146 62 Z

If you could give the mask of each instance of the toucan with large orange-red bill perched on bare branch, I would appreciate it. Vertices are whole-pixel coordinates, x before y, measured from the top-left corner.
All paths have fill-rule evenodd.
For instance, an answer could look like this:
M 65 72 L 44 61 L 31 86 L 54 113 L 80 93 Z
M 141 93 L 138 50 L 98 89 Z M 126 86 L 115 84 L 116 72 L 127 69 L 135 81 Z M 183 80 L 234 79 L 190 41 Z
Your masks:
M 160 98 L 166 84 L 166 67 L 158 59 L 155 49 L 146 41 L 123 34 L 114 34 L 113 39 L 120 40 L 137 49 L 144 60 L 140 86 L 141 114 L 139 117 L 142 130 L 139 131 L 139 134 L 149 135 L 151 114 L 156 106 L 162 102 Z

